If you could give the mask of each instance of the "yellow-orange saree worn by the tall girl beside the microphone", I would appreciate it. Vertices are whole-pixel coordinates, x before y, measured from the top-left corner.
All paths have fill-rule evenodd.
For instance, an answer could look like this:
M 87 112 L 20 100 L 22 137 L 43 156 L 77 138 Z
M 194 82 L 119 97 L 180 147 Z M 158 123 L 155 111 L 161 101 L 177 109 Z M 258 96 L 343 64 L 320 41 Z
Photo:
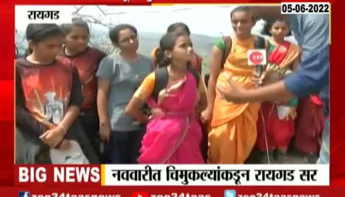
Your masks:
M 217 85 L 227 87 L 232 79 L 245 88 L 250 82 L 254 66 L 247 65 L 247 51 L 254 48 L 255 37 L 246 40 L 232 38 L 232 48 L 218 76 Z M 208 134 L 208 163 L 242 164 L 256 141 L 256 122 L 260 103 L 233 103 L 215 97 L 211 131 Z

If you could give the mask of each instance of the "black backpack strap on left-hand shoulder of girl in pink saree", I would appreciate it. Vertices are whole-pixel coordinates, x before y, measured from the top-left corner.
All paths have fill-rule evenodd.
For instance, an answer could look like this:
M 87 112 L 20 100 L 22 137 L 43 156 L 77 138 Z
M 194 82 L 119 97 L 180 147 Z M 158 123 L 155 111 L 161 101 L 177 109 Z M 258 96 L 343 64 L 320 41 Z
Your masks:
M 155 69 L 155 85 L 153 88 L 153 99 L 158 100 L 158 95 L 161 90 L 167 87 L 169 80 L 169 73 L 167 67 L 159 67 Z

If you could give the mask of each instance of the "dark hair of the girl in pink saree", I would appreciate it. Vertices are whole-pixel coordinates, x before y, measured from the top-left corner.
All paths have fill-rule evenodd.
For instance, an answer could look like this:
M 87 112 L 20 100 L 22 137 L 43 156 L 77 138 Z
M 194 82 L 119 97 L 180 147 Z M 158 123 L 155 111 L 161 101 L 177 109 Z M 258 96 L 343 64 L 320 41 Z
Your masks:
M 175 46 L 177 38 L 181 35 L 176 35 L 173 33 L 166 33 L 163 35 L 159 42 L 159 48 L 156 50 L 156 59 L 158 67 L 169 66 L 172 63 L 172 60 L 165 56 L 165 51 L 172 51 Z M 187 66 L 190 65 L 190 62 L 187 63 Z

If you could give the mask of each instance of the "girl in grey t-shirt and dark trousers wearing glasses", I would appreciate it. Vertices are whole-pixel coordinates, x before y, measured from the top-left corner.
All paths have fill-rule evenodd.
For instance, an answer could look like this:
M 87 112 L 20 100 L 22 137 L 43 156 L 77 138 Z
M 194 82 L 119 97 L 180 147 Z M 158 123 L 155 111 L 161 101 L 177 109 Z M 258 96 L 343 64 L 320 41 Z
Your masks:
M 153 70 L 153 63 L 137 53 L 139 43 L 135 27 L 118 25 L 110 30 L 109 38 L 120 52 L 105 57 L 96 74 L 100 136 L 109 148 L 108 162 L 135 164 L 145 128 L 124 110 L 140 82 Z

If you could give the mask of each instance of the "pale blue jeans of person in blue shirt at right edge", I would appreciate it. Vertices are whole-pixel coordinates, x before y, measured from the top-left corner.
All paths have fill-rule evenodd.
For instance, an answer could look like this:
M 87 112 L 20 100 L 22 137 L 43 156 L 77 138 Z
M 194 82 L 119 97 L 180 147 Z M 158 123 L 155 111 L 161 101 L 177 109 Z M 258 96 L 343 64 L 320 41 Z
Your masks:
M 316 164 L 329 164 L 329 116 L 327 116 L 325 121 L 320 155 Z

